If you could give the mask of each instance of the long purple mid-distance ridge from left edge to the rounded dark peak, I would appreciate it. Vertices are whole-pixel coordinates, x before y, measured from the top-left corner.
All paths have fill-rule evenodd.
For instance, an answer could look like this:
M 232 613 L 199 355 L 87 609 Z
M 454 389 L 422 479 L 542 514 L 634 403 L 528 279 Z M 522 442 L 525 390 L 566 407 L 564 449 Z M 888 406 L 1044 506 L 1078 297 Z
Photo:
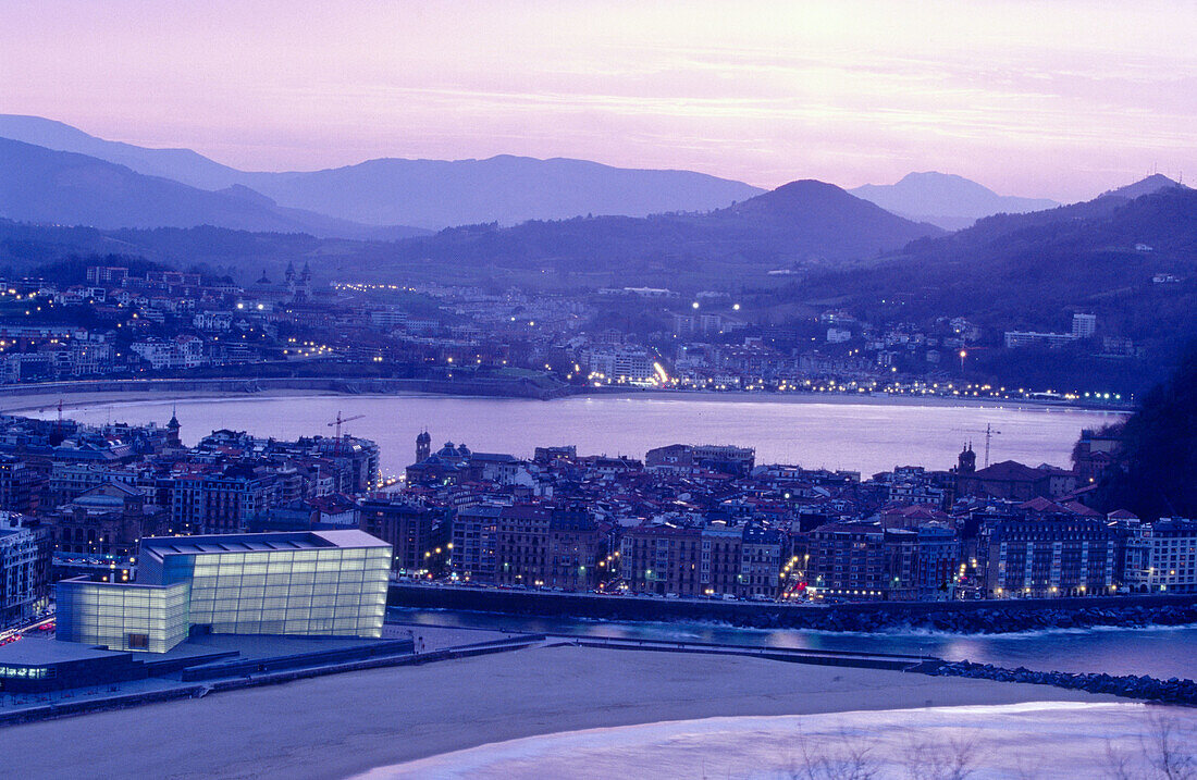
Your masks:
M 261 196 L 236 191 L 248 206 Z M 446 228 L 393 243 L 316 239 L 304 234 L 198 228 L 111 230 L 0 224 L 0 260 L 29 267 L 63 252 L 126 252 L 174 264 L 235 267 L 247 281 L 259 264 L 320 258 L 322 279 L 438 276 L 608 286 L 657 284 L 686 288 L 698 279 L 727 284 L 743 274 L 801 264 L 875 262 L 915 238 L 938 236 L 853 197 L 833 184 L 802 181 L 705 214 L 594 217 Z M 40 239 L 40 240 L 38 240 Z M 705 282 L 704 282 L 705 284 Z

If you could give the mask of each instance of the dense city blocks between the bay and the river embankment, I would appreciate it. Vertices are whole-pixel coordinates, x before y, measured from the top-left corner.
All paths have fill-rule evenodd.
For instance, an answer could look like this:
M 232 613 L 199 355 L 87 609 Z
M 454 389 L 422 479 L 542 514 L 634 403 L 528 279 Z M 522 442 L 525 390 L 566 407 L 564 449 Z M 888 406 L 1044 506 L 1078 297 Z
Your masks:
M 1094 431 L 1070 469 L 978 464 L 968 444 L 950 469 L 863 479 L 735 446 L 525 461 L 425 432 L 389 486 L 378 447 L 340 429 L 190 447 L 180 431 L 2 418 L 7 622 L 44 610 L 56 580 L 136 580 L 145 537 L 344 529 L 387 542 L 399 581 L 499 589 L 822 603 L 1197 589 L 1197 523 L 1087 505 L 1118 447 Z

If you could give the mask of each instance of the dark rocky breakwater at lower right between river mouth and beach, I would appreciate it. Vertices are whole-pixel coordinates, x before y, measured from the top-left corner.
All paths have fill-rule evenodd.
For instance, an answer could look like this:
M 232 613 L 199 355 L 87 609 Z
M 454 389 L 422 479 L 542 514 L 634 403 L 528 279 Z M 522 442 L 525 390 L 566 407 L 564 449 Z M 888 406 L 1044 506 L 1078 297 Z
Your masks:
M 929 665 L 930 666 L 930 665 Z M 1069 674 L 1064 671 L 1033 671 L 1023 666 L 1004 669 L 992 664 L 967 660 L 944 662 L 919 670 L 932 677 L 971 677 L 997 682 L 1020 682 L 1033 685 L 1055 685 L 1090 694 L 1110 694 L 1169 705 L 1197 705 L 1197 682 L 1192 680 L 1159 680 L 1147 675 Z

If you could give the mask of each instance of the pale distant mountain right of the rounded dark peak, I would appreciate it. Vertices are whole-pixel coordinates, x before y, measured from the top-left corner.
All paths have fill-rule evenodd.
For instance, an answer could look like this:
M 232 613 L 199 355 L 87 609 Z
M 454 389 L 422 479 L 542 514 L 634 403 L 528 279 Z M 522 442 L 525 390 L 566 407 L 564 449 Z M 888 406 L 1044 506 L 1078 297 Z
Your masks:
M 962 176 L 937 171 L 907 173 L 897 184 L 864 184 L 849 191 L 894 214 L 944 230 L 961 230 L 991 214 L 1022 214 L 1059 206 L 1046 199 L 998 195 Z

